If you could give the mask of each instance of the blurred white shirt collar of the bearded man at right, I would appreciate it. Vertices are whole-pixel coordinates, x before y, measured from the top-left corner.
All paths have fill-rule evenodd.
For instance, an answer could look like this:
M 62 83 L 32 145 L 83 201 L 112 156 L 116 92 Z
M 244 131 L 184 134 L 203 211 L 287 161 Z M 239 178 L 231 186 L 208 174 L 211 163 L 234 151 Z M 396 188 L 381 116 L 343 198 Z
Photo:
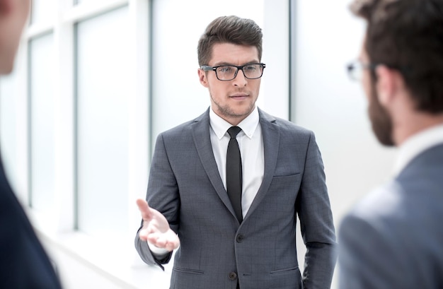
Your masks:
M 398 175 L 417 155 L 439 143 L 443 143 L 443 124 L 432 126 L 408 138 L 399 147 L 394 175 Z

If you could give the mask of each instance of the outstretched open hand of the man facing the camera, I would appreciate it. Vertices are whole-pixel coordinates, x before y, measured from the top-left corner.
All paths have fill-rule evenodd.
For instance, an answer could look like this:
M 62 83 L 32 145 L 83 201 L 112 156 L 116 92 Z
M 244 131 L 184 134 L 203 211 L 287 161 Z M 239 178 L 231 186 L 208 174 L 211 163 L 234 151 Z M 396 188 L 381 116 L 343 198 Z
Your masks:
M 169 228 L 168 220 L 159 211 L 150 208 L 144 199 L 137 199 L 137 206 L 143 218 L 143 228 L 139 231 L 140 240 L 148 241 L 169 252 L 177 249 L 180 246 L 180 240 Z

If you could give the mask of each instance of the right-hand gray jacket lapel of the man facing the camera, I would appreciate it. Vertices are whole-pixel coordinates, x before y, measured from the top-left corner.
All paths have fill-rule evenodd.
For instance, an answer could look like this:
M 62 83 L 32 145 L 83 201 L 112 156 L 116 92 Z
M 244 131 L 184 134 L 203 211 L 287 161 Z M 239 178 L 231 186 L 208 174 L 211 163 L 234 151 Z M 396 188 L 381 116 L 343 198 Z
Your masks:
M 260 202 L 265 197 L 267 190 L 272 182 L 272 177 L 274 177 L 275 166 L 277 165 L 278 149 L 280 146 L 280 129 L 275 124 L 275 118 L 270 114 L 258 110 L 260 116 L 260 126 L 262 127 L 263 136 L 263 152 L 265 155 L 265 172 L 263 175 L 263 182 L 258 189 L 257 195 L 245 216 L 248 216 L 258 207 Z

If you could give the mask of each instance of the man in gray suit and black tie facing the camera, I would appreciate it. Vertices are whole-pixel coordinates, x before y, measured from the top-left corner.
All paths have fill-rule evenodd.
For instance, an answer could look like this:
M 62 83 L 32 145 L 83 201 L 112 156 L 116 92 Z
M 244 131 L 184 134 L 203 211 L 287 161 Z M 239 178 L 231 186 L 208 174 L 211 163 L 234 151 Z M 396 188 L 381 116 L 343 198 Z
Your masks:
M 311 131 L 255 106 L 262 36 L 252 20 L 213 20 L 197 49 L 211 106 L 157 138 L 149 206 L 137 200 L 143 221 L 135 246 L 159 265 L 178 248 L 171 288 L 330 288 L 335 230 L 321 154 Z M 231 141 L 241 155 L 240 204 L 226 180 L 237 170 L 228 165 Z M 297 214 L 307 247 L 303 277 Z

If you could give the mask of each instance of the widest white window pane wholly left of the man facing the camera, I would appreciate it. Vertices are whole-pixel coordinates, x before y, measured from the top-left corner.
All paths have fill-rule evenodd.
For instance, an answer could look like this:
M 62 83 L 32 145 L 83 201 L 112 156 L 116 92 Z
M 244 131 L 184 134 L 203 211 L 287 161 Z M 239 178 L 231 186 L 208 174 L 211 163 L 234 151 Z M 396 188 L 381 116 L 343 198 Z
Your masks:
M 128 9 L 77 25 L 78 225 L 127 230 Z

